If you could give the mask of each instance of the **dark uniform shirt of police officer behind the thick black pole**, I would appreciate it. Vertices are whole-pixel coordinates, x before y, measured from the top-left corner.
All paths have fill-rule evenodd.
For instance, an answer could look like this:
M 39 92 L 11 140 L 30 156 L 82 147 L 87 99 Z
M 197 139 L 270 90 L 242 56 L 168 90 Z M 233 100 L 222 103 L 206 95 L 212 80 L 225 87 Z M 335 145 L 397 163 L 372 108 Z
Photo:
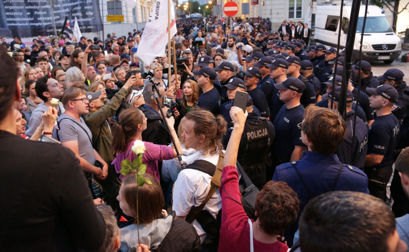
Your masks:
M 345 134 L 345 138 L 338 146 L 335 154 L 338 156 L 341 163 L 351 164 L 363 170 L 368 150 L 368 126 L 362 121 L 362 119 L 357 117 L 354 127 L 354 117 L 354 110 L 345 115 L 344 119 L 347 123 L 347 134 Z M 354 128 L 355 137 L 353 138 Z

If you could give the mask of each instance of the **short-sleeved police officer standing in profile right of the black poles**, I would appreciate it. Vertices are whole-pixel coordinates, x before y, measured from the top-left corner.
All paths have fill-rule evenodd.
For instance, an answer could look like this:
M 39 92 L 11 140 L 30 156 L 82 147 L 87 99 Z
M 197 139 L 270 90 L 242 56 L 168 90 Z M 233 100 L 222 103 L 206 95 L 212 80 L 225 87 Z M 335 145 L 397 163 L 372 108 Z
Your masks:
M 369 103 L 376 112 L 376 118 L 369 128 L 364 171 L 368 175 L 370 194 L 386 202 L 386 186 L 392 175 L 393 153 L 399 134 L 399 121 L 392 114 L 392 107 L 398 100 L 398 91 L 387 84 L 366 88 L 366 91 L 371 95 Z

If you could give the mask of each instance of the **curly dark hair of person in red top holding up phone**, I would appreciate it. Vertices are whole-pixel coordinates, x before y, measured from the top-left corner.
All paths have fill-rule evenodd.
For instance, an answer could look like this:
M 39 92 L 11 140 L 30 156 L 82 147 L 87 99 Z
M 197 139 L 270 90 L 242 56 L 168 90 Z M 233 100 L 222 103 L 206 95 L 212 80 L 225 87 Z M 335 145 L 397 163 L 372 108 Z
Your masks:
M 260 227 L 267 234 L 280 234 L 297 220 L 299 205 L 297 193 L 286 182 L 269 181 L 255 204 Z

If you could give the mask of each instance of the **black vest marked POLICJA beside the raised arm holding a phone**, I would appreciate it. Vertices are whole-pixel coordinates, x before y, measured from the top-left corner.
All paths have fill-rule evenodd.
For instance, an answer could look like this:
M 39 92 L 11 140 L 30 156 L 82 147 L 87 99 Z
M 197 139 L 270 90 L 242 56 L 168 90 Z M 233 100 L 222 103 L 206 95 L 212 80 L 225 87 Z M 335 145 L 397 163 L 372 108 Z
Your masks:
M 246 146 L 242 150 L 244 152 L 239 153 L 237 158 L 243 168 L 264 165 L 271 144 L 268 129 L 267 119 L 264 117 L 259 117 L 257 121 L 245 122 L 243 135 Z

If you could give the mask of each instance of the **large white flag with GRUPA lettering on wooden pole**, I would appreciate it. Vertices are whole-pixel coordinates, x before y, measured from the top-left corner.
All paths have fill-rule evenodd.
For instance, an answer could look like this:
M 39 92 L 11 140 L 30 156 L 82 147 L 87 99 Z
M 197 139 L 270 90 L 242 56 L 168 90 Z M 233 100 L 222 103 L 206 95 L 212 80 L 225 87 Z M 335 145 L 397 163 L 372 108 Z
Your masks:
M 170 1 L 170 35 L 176 34 L 176 18 L 172 0 Z M 152 8 L 148 22 L 143 30 L 136 56 L 145 65 L 150 65 L 155 57 L 165 53 L 168 44 L 168 2 L 156 0 Z

